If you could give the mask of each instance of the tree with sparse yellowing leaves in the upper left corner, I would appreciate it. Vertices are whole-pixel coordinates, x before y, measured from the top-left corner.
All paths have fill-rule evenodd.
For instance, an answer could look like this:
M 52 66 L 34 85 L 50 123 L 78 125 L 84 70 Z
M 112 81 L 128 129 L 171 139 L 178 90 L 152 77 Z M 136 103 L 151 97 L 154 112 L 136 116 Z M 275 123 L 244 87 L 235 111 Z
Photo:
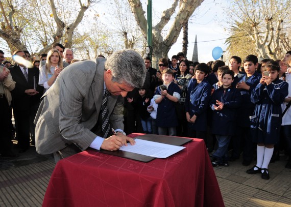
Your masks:
M 72 46 L 74 31 L 85 11 L 98 0 L 4 0 L 0 1 L 0 37 L 10 50 L 29 49 L 32 53 L 47 52 L 61 42 Z

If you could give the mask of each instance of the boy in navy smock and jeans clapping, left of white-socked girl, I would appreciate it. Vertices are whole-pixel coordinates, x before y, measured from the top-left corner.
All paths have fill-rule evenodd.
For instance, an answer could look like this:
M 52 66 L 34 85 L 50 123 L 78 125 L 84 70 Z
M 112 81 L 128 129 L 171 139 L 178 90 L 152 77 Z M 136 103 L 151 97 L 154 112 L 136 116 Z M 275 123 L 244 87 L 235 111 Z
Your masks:
M 212 166 L 228 166 L 228 145 L 235 134 L 236 109 L 241 104 L 239 91 L 232 86 L 234 72 L 227 70 L 222 75 L 223 86 L 214 91 L 210 100 L 212 113 L 212 134 L 218 142 L 212 154 Z

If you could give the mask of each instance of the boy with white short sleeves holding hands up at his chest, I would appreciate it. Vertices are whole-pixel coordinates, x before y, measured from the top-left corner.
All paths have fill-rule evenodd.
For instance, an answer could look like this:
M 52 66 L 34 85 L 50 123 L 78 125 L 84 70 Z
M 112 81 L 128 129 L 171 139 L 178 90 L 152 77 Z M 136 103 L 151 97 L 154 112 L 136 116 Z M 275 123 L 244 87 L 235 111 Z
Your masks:
M 162 72 L 163 85 L 157 87 L 154 99 L 158 104 L 156 125 L 159 135 L 176 136 L 178 119 L 175 110 L 175 103 L 181 97 L 180 87 L 173 82 L 174 73 L 171 69 Z

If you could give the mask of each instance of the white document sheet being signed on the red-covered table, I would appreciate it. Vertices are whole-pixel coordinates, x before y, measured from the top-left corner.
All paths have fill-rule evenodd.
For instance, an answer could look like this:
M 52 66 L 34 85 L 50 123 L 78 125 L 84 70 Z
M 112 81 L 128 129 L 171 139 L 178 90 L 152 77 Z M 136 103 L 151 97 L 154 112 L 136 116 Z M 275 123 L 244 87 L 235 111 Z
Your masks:
M 127 146 L 123 145 L 119 150 L 140 155 L 147 155 L 150 157 L 167 158 L 183 150 L 184 148 L 184 146 L 175 146 L 154 141 L 135 139 L 135 145 L 128 143 Z

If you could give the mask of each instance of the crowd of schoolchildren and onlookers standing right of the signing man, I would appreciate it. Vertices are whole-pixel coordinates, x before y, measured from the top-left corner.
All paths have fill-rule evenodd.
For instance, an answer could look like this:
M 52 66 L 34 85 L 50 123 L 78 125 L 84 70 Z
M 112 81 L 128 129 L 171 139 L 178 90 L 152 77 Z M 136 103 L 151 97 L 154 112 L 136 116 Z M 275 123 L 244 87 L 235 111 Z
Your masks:
M 156 74 L 146 57 L 151 78 L 127 95 L 125 131 L 202 138 L 213 151 L 213 167 L 241 155 L 248 166 L 256 158 L 247 173 L 269 179 L 269 163 L 280 159 L 280 150 L 291 155 L 291 112 L 284 112 L 291 99 L 290 55 L 261 63 L 255 55 L 232 56 L 226 66 L 193 63 L 179 52 L 171 61 L 160 58 Z M 285 167 L 291 168 L 290 159 Z

